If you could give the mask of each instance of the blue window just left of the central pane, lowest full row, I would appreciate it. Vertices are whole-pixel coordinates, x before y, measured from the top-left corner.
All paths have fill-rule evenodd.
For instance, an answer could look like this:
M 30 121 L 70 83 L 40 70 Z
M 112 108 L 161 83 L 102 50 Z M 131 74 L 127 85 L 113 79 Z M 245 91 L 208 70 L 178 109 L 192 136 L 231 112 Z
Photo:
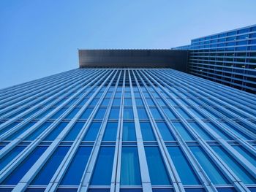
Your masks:
M 110 185 L 113 168 L 115 147 L 101 147 L 94 172 L 91 177 L 91 185 Z M 104 172 L 102 172 L 104 170 Z

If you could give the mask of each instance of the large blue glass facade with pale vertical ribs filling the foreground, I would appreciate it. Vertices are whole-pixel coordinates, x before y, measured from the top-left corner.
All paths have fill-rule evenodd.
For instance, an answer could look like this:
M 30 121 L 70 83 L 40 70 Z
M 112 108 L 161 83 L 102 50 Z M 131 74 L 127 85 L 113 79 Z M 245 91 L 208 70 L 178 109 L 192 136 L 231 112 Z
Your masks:
M 0 191 L 255 191 L 256 99 L 173 69 L 0 91 Z

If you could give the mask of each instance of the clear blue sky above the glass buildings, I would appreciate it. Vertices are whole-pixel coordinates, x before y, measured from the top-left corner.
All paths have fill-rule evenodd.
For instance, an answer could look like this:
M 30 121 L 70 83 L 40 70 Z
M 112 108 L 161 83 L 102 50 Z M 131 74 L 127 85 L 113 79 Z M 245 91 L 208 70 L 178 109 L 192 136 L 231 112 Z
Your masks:
M 0 88 L 78 68 L 78 48 L 170 48 L 256 23 L 255 0 L 1 0 Z

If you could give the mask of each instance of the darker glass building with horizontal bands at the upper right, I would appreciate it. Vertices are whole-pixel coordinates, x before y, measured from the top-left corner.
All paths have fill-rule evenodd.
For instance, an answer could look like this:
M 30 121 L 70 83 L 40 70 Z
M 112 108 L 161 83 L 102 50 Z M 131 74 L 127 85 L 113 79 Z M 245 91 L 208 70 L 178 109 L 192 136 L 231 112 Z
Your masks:
M 192 39 L 189 73 L 256 93 L 256 25 Z

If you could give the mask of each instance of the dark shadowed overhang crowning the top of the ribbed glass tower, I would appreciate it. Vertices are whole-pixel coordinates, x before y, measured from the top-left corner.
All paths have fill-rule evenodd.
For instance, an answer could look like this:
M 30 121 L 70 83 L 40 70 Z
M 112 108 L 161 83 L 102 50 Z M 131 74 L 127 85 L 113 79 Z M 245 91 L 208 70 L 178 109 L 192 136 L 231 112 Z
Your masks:
M 187 50 L 78 50 L 80 68 L 150 67 L 187 72 Z

